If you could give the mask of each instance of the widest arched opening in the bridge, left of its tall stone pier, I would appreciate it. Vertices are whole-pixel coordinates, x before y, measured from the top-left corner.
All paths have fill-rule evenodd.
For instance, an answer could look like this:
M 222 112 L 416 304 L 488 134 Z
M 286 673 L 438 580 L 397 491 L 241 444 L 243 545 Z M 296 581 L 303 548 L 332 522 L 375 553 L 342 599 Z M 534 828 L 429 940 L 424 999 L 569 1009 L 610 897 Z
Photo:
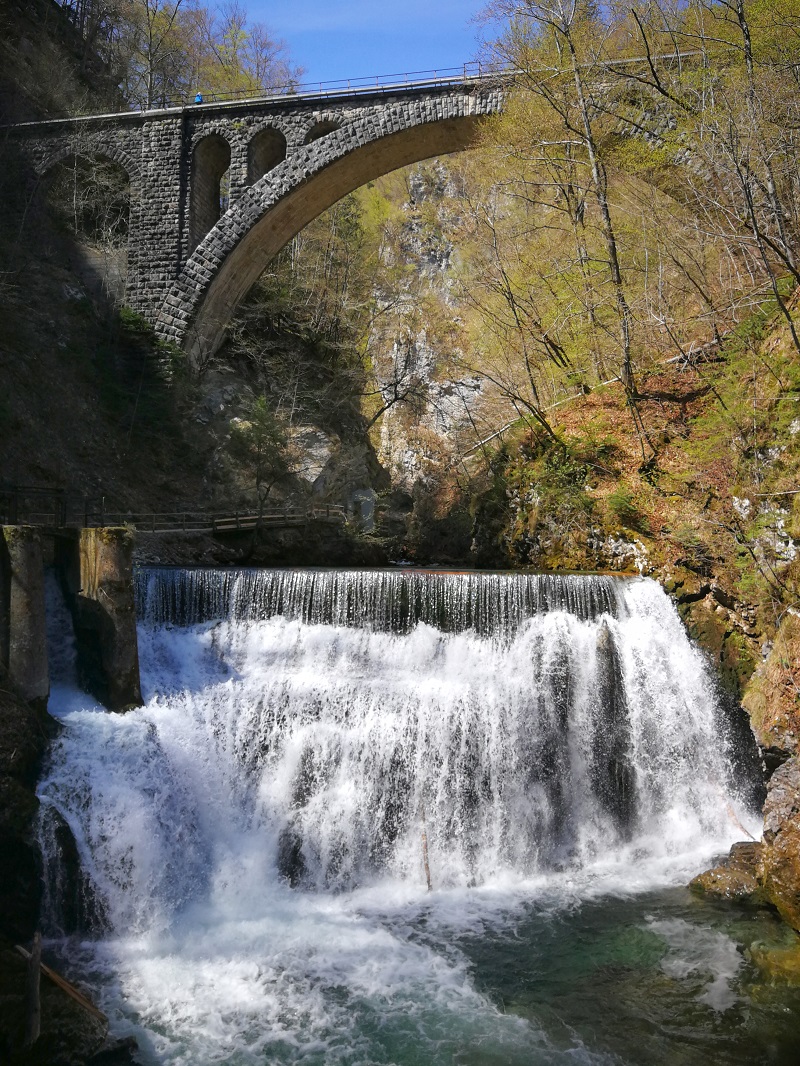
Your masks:
M 69 155 L 45 176 L 49 213 L 82 246 L 84 282 L 98 296 L 122 303 L 127 277 L 131 180 L 103 155 Z

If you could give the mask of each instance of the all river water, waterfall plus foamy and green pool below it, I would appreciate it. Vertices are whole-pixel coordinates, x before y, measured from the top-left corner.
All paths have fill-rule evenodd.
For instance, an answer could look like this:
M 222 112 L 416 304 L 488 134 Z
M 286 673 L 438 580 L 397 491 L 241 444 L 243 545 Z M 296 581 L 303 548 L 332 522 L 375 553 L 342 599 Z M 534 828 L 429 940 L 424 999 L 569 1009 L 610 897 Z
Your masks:
M 145 570 L 138 596 L 146 704 L 92 706 L 62 647 L 39 794 L 49 949 L 143 1063 L 798 1061 L 800 996 L 747 954 L 782 926 L 683 887 L 761 830 L 654 582 Z

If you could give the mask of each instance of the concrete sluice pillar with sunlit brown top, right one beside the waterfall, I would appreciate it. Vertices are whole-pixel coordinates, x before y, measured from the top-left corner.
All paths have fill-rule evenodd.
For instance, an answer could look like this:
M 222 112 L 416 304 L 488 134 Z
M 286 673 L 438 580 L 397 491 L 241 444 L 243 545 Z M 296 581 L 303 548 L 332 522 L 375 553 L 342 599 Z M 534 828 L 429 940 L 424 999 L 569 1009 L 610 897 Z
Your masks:
M 57 547 L 78 679 L 110 711 L 142 705 L 132 556 L 133 536 L 124 528 L 82 529 Z

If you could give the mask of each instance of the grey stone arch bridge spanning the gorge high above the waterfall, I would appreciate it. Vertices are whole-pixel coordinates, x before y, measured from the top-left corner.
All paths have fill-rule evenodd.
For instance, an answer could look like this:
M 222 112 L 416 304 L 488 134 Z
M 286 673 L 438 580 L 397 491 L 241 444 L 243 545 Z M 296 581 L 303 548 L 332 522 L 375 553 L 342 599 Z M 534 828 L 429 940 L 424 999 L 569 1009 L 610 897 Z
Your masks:
M 295 233 L 367 181 L 468 147 L 503 96 L 502 83 L 484 76 L 52 119 L 4 132 L 42 178 L 74 156 L 126 171 L 126 302 L 199 364 Z

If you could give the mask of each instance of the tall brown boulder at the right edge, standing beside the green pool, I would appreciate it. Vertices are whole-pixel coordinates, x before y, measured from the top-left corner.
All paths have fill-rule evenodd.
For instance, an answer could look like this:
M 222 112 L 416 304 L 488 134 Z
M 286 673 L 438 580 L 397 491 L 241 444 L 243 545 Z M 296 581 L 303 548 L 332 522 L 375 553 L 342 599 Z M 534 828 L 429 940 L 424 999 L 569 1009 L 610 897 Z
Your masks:
M 758 881 L 781 917 L 800 931 L 800 758 L 784 763 L 769 782 Z

